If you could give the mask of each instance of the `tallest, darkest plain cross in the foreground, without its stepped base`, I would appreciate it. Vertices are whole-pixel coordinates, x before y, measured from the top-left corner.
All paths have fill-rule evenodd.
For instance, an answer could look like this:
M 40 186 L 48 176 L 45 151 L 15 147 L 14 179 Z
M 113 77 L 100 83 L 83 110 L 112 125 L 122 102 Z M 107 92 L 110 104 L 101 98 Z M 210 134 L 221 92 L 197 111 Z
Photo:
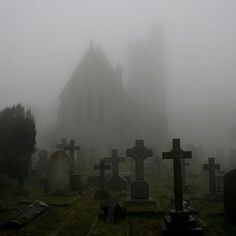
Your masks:
M 183 151 L 180 147 L 180 139 L 173 139 L 173 147 L 170 152 L 163 152 L 163 159 L 173 159 L 174 164 L 174 194 L 175 210 L 183 211 L 183 183 L 181 171 L 181 159 L 192 158 L 192 152 Z

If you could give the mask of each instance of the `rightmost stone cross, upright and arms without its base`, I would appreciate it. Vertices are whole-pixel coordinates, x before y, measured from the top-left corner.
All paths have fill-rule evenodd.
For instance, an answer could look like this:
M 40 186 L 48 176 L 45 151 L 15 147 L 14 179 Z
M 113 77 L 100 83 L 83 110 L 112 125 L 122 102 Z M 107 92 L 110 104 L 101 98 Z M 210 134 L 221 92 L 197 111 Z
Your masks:
M 208 164 L 204 164 L 203 168 L 209 171 L 209 193 L 216 194 L 216 175 L 215 170 L 220 169 L 220 164 L 215 163 L 215 158 L 208 158 Z

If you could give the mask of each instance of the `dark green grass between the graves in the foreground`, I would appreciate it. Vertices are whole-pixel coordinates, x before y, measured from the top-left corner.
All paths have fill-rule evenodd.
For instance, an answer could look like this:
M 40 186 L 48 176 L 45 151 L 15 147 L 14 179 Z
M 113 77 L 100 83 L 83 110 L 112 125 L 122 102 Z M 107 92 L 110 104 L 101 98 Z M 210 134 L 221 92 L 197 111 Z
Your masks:
M 170 198 L 172 194 L 172 179 L 163 172 L 162 176 L 147 175 L 146 180 L 150 184 L 150 196 L 160 204 L 165 214 L 172 207 Z M 223 203 L 208 203 L 202 199 L 202 195 L 207 193 L 207 180 L 195 173 L 188 177 L 190 193 L 185 197 L 190 199 L 199 214 L 197 218 L 199 223 L 207 224 L 208 236 L 235 236 L 236 227 L 224 223 Z M 39 218 L 28 224 L 20 231 L 0 230 L 0 235 L 104 235 L 104 236 L 124 236 L 124 235 L 161 235 L 160 223 L 162 216 L 156 217 L 128 217 L 119 220 L 116 224 L 106 223 L 98 219 L 99 206 L 98 201 L 93 200 L 95 189 L 87 189 L 83 196 L 71 195 L 67 197 L 49 196 L 42 193 L 37 186 L 31 186 L 28 196 L 15 196 L 12 189 L 0 190 L 0 201 L 8 208 L 7 211 L 0 213 L 0 222 L 16 214 L 24 204 L 22 201 L 41 200 L 49 204 L 64 204 L 72 202 L 68 206 L 51 206 L 50 209 Z M 120 200 L 125 199 L 125 194 L 116 194 Z

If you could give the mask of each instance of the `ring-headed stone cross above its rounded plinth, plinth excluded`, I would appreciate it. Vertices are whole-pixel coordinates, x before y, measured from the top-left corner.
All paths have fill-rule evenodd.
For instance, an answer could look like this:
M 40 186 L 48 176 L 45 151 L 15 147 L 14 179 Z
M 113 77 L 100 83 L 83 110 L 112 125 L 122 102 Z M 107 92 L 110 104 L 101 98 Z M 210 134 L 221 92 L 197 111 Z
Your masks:
M 135 146 L 126 152 L 128 157 L 135 160 L 135 176 L 136 180 L 144 180 L 144 160 L 153 155 L 152 149 L 144 146 L 143 140 L 136 140 Z

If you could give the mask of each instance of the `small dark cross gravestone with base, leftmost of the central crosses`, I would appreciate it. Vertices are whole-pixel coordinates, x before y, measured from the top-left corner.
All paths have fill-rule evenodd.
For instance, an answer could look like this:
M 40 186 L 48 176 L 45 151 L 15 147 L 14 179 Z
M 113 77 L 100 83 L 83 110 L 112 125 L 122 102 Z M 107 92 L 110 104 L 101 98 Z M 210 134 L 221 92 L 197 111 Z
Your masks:
M 110 166 L 105 164 L 104 159 L 101 159 L 99 165 L 95 165 L 94 169 L 99 170 L 99 186 L 100 186 L 100 189 L 94 195 L 94 199 L 96 200 L 107 199 L 109 198 L 109 194 L 104 188 L 105 170 L 109 170 Z

